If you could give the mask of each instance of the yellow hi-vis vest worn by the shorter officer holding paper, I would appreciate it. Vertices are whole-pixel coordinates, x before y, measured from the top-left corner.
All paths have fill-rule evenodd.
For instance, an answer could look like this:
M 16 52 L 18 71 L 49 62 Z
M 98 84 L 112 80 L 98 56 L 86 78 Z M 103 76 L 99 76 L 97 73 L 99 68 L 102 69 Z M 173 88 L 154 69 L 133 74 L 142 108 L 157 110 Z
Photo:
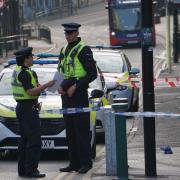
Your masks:
M 14 70 L 12 74 L 12 80 L 11 80 L 11 85 L 12 85 L 12 91 L 13 91 L 13 96 L 15 100 L 27 100 L 27 99 L 37 99 L 38 96 L 30 96 L 28 93 L 25 91 L 25 89 L 22 86 L 22 83 L 18 79 L 19 73 L 22 71 L 21 66 L 16 66 L 16 69 Z M 31 76 L 31 83 L 34 87 L 37 87 L 37 81 L 36 78 L 33 76 L 33 72 L 29 69 L 26 70 L 30 76 Z

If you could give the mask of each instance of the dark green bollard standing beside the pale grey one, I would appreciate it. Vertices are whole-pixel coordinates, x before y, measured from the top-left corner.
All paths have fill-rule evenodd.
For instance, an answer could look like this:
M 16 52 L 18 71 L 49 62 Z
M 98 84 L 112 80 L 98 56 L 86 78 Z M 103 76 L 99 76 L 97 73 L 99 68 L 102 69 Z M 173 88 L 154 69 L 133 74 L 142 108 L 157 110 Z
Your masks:
M 114 99 L 112 109 L 114 112 L 123 112 L 128 108 L 127 100 L 121 102 L 121 98 Z M 125 102 L 126 101 L 126 102 Z M 118 103 L 120 102 L 120 103 Z M 116 130 L 116 158 L 117 158 L 117 177 L 122 180 L 128 179 L 128 162 L 127 162 L 127 138 L 126 138 L 126 118 L 122 115 L 115 114 Z

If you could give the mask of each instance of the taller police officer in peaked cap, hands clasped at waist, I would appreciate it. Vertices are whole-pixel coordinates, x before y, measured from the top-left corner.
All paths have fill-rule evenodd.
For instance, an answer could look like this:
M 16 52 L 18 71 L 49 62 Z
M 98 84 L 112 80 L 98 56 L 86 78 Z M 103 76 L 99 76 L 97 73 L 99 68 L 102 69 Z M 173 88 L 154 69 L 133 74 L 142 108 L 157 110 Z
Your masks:
M 77 23 L 62 24 L 68 42 L 60 51 L 59 72 L 64 81 L 59 88 L 63 108 L 89 107 L 89 83 L 97 78 L 97 69 L 89 46 L 78 37 Z M 65 114 L 70 164 L 61 172 L 86 173 L 92 168 L 90 113 Z

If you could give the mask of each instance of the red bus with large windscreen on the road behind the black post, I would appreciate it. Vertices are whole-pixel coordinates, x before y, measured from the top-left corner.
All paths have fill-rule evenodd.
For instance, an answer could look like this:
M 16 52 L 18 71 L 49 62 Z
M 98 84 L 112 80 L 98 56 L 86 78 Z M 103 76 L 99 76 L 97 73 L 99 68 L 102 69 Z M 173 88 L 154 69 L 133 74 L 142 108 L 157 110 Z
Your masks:
M 141 0 L 108 0 L 109 36 L 112 46 L 140 46 Z M 154 18 L 153 18 L 154 19 Z M 153 27 L 153 45 L 155 28 Z

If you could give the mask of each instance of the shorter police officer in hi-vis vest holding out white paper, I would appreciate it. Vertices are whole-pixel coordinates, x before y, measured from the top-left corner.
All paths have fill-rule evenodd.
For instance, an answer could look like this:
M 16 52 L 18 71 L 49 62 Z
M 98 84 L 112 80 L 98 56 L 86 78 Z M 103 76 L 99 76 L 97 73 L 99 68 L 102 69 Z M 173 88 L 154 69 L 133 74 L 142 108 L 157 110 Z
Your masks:
M 54 84 L 49 81 L 39 85 L 37 75 L 30 69 L 33 65 L 32 47 L 14 53 L 17 66 L 12 75 L 12 90 L 17 101 L 16 115 L 20 123 L 20 142 L 18 146 L 18 175 L 28 178 L 43 178 L 38 171 L 41 152 L 41 131 L 38 96 Z

